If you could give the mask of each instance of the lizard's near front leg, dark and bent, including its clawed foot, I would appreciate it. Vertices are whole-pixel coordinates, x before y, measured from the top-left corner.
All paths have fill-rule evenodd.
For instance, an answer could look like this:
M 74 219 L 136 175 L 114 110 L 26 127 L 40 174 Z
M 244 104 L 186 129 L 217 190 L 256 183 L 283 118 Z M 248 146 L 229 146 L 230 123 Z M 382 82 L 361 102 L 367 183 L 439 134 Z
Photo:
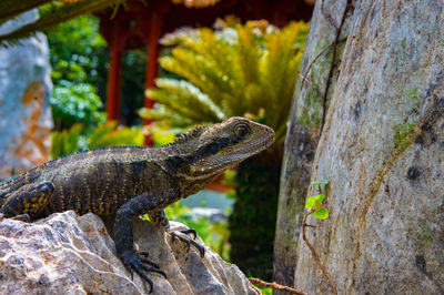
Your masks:
M 141 257 L 139 253 L 134 251 L 132 218 L 133 216 L 139 216 L 155 210 L 159 204 L 157 204 L 154 200 L 155 199 L 148 193 L 131 199 L 118 210 L 114 222 L 117 253 L 124 266 L 130 271 L 131 277 L 133 272 L 135 272 L 150 284 L 150 293 L 153 288 L 153 282 L 143 271 L 161 274 L 165 278 L 167 274 L 160 269 L 157 263 L 145 257 Z M 147 266 L 147 264 L 150 266 Z

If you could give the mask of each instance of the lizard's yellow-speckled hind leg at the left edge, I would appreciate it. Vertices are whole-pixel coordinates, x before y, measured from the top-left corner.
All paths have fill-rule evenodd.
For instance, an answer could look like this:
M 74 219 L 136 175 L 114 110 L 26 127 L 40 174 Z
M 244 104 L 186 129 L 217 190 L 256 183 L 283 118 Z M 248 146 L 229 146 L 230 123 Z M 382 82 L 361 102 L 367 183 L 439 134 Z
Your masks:
M 4 217 L 34 218 L 44 210 L 54 192 L 51 182 L 30 183 L 7 195 L 0 207 Z

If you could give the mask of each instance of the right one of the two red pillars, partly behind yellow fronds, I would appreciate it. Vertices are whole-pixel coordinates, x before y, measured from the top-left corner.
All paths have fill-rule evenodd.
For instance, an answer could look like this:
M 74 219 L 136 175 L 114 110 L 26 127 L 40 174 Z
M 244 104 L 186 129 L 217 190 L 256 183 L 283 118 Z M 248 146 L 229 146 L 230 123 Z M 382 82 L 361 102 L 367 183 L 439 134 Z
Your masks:
M 148 26 L 147 37 L 147 47 L 148 47 L 148 58 L 147 58 L 147 74 L 145 74 L 145 89 L 150 89 L 154 87 L 154 80 L 158 78 L 159 73 L 159 39 L 162 33 L 162 24 L 163 24 L 163 13 L 158 9 L 151 10 L 150 20 Z M 150 98 L 145 98 L 144 106 L 153 108 L 154 101 L 150 100 Z M 143 124 L 148 125 L 152 120 L 144 119 Z M 151 136 L 145 138 L 145 145 L 152 145 Z

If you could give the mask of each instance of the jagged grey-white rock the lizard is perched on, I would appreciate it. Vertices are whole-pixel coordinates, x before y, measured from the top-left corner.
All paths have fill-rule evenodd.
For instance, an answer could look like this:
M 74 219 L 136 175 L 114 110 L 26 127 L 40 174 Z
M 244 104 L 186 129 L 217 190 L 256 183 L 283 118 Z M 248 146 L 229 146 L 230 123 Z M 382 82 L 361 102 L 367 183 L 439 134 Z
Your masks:
M 201 258 L 142 218 L 134 220 L 134 241 L 168 275 L 149 274 L 152 294 L 256 294 L 235 265 L 209 247 Z M 149 288 L 135 274 L 131 281 L 102 220 L 92 213 L 0 222 L 0 294 L 147 294 Z

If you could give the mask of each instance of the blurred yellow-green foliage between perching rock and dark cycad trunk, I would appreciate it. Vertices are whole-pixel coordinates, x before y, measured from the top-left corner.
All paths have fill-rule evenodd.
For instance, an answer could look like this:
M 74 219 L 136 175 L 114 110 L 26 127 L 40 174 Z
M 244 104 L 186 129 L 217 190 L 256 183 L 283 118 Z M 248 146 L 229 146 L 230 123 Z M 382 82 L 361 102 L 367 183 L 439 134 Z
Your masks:
M 230 232 L 226 221 L 215 223 L 206 216 L 196 217 L 191 208 L 183 206 L 180 202 L 165 207 L 165 214 L 170 221 L 181 222 L 194 228 L 206 246 L 219 253 L 223 260 L 230 261 L 230 244 L 228 243 Z M 149 220 L 148 215 L 143 217 Z

